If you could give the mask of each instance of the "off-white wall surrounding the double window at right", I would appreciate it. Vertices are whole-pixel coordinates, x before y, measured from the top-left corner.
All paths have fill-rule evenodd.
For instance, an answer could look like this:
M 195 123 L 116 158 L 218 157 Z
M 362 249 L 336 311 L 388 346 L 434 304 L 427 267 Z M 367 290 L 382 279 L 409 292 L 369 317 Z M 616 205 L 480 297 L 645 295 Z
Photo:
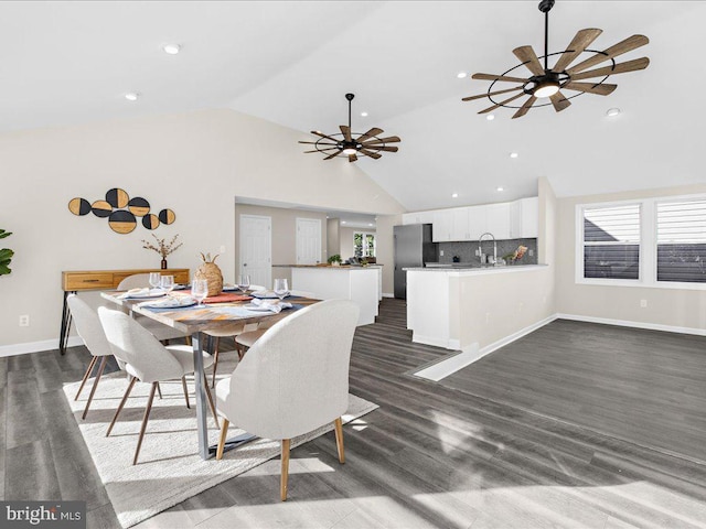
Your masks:
M 612 201 L 706 193 L 706 185 L 575 196 L 558 199 L 557 312 L 641 325 L 706 330 L 706 291 L 641 287 L 577 284 L 576 206 Z M 642 309 L 640 300 L 646 300 Z

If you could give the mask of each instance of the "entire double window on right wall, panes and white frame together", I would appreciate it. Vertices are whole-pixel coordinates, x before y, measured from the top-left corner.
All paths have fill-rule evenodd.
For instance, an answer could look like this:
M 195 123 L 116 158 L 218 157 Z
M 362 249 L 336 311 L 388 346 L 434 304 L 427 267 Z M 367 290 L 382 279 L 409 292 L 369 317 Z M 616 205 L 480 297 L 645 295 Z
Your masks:
M 706 196 L 576 207 L 576 282 L 706 290 Z

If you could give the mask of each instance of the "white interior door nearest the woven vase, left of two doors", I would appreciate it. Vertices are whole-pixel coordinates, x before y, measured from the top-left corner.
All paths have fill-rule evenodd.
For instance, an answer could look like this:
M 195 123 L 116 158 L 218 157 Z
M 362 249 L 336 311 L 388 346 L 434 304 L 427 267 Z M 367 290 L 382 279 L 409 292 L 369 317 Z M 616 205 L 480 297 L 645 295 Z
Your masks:
M 272 281 L 272 219 L 240 215 L 240 256 L 236 274 L 249 273 L 250 282 L 266 289 Z M 235 278 L 237 281 L 237 278 Z

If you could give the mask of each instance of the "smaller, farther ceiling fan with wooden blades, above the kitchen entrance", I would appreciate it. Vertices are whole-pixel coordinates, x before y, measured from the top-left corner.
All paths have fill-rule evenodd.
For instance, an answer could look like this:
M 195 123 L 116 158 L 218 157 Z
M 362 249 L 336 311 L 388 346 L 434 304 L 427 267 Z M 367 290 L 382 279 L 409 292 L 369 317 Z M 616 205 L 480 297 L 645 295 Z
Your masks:
M 399 137 L 391 136 L 388 138 L 381 138 L 379 134 L 385 131 L 377 127 L 373 127 L 367 132 L 354 138 L 356 133 L 351 132 L 351 101 L 354 97 L 355 95 L 353 94 L 345 95 L 349 101 L 349 125 L 339 126 L 341 132 L 334 134 L 324 134 L 318 130 L 312 130 L 311 133 L 318 136 L 319 139 L 317 141 L 300 141 L 299 143 L 314 145 L 313 151 L 304 151 L 304 153 L 320 152 L 325 154 L 324 160 L 331 160 L 336 156 L 347 156 L 349 162 L 355 162 L 360 155 L 377 160 L 382 158 L 381 152 L 397 152 L 398 148 L 388 145 L 388 143 L 400 142 Z

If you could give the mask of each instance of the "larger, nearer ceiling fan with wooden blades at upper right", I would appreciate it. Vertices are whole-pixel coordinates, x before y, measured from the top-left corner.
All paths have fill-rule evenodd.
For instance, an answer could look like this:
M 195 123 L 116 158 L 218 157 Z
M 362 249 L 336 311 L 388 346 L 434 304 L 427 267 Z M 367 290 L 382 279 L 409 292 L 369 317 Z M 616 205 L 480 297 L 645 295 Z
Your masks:
M 602 30 L 595 28 L 578 31 L 566 50 L 549 53 L 549 11 L 553 7 L 554 0 L 542 0 L 539 2 L 539 11 L 544 13 L 544 55 L 537 56 L 532 46 L 520 46 L 513 50 L 513 54 L 522 61 L 521 64 L 513 66 L 500 75 L 473 74 L 471 76 L 473 79 L 492 82 L 485 94 L 469 96 L 462 99 L 463 101 L 472 101 L 486 97 L 493 102 L 493 106 L 480 110 L 478 114 L 486 114 L 500 107 L 514 108 L 517 109 L 513 115 L 514 119 L 526 115 L 533 107 L 546 107 L 547 105 L 552 105 L 557 112 L 560 112 L 571 105 L 569 99 L 582 94 L 595 94 L 599 96 L 608 96 L 611 94 L 618 87 L 618 85 L 605 83 L 611 75 L 644 69 L 650 64 L 648 57 L 616 63 L 617 56 L 648 44 L 650 40 L 644 35 L 629 36 L 603 51 L 589 50 L 588 46 L 602 33 Z M 582 53 L 592 53 L 593 55 L 571 66 Z M 549 68 L 549 57 L 555 55 L 559 55 L 559 57 L 556 63 L 554 63 L 554 66 Z M 544 64 L 542 60 L 544 60 Z M 589 69 L 607 61 L 610 61 L 610 65 Z M 517 77 L 514 71 L 523 66 L 527 68 L 532 75 Z M 595 82 L 578 83 L 584 79 L 593 79 Z M 504 85 L 505 87 L 499 85 L 501 89 L 494 89 L 496 83 L 515 83 L 520 86 L 505 88 L 507 85 Z M 566 96 L 561 93 L 563 89 L 577 91 L 578 94 Z M 493 99 L 494 96 L 518 90 L 522 91 L 503 100 Z M 510 105 L 523 96 L 528 97 L 520 106 Z M 546 98 L 548 98 L 549 101 L 536 104 L 537 100 Z

